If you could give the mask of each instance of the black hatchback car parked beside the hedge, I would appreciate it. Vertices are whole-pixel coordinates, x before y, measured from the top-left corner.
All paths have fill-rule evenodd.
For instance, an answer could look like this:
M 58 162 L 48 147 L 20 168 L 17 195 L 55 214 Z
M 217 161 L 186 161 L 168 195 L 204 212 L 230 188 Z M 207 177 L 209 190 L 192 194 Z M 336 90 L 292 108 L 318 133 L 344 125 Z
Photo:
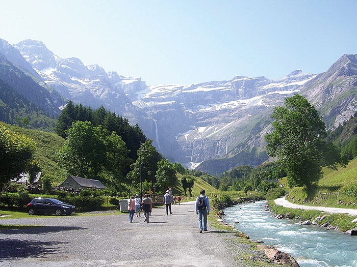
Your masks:
M 34 198 L 27 204 L 27 212 L 29 215 L 34 214 L 56 214 L 70 215 L 75 213 L 75 206 L 64 203 L 56 198 Z

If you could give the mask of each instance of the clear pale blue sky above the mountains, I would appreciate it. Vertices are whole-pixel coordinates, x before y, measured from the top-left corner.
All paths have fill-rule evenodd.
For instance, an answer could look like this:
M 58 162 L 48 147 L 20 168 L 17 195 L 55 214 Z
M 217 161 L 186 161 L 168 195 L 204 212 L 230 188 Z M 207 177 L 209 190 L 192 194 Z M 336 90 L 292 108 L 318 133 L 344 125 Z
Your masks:
M 2 1 L 0 38 L 147 85 L 281 78 L 357 54 L 357 1 Z

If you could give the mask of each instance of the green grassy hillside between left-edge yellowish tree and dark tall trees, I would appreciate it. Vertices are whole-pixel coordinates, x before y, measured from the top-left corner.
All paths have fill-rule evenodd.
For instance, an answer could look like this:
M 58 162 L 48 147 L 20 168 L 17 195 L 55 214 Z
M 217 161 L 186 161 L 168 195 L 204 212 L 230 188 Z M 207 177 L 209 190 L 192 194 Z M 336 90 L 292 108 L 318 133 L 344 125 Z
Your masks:
M 56 160 L 56 153 L 64 143 L 62 137 L 54 133 L 25 129 L 3 123 L 2 125 L 5 125 L 10 132 L 24 134 L 34 139 L 37 144 L 34 157 L 40 165 L 42 175 L 48 174 L 53 177 L 55 185 L 63 182 L 65 179 L 64 170 L 58 165 Z

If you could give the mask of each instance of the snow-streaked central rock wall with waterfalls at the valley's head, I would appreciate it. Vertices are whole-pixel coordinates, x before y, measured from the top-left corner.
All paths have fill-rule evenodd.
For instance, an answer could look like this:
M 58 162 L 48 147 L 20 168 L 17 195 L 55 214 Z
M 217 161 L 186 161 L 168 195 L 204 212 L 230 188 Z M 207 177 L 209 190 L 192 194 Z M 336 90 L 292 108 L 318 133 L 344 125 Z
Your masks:
M 135 92 L 132 99 L 153 121 L 161 152 L 195 164 L 232 153 L 264 112 L 268 115 L 315 76 L 297 70 L 274 80 L 238 76 L 187 86 L 157 85 Z

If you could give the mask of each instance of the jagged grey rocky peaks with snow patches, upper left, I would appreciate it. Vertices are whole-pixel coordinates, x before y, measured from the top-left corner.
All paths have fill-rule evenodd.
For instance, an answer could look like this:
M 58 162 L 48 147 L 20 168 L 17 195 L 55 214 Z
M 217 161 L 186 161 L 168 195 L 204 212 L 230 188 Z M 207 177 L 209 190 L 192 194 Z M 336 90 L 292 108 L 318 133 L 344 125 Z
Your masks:
M 43 81 L 62 96 L 86 106 L 105 108 L 117 114 L 131 113 L 132 103 L 125 96 L 126 87 L 143 86 L 140 78 L 107 73 L 98 65 L 85 66 L 79 58 L 60 58 L 41 41 L 25 40 L 14 45 Z M 129 115 L 132 117 L 132 115 Z

